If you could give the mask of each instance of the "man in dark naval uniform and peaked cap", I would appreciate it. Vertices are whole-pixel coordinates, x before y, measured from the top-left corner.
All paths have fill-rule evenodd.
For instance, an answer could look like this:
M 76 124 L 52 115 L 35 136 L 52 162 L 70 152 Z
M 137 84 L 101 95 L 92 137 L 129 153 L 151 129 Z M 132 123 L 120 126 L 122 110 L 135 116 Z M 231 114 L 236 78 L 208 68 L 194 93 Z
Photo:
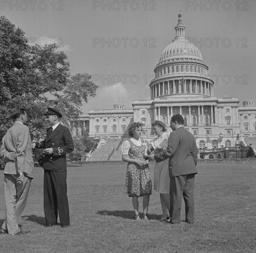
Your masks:
M 47 137 L 41 143 L 32 144 L 33 148 L 43 150 L 39 164 L 44 168 L 44 212 L 46 226 L 70 225 L 70 211 L 67 197 L 67 166 L 66 154 L 74 150 L 74 143 L 67 127 L 59 123 L 62 114 L 48 107 L 45 113 L 48 123 Z

